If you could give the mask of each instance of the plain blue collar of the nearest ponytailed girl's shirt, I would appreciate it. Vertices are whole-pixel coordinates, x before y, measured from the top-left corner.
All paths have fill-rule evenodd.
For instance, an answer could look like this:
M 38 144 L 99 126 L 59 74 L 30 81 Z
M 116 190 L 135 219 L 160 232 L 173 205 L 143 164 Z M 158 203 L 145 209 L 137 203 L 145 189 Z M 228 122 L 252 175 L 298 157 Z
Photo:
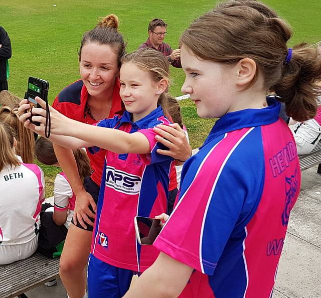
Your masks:
M 230 112 L 218 119 L 204 144 L 226 132 L 242 129 L 245 127 L 255 127 L 271 124 L 278 120 L 280 103 L 275 98 L 266 98 L 268 106 L 262 109 L 244 109 Z

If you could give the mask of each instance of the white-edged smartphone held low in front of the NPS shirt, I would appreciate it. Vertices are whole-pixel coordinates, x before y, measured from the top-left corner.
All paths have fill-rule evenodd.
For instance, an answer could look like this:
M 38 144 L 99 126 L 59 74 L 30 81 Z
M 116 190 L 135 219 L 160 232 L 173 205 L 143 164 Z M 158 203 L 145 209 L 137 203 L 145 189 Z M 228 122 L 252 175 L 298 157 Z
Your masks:
M 161 220 L 155 218 L 135 216 L 134 224 L 138 243 L 142 245 L 152 245 L 162 230 Z

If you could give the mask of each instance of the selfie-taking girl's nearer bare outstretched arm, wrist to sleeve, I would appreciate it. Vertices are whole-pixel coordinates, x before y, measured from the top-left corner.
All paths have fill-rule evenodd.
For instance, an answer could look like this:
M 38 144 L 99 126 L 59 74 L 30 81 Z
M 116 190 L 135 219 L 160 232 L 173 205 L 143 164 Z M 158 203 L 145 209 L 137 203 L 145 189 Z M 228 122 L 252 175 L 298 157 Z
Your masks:
M 141 133 L 127 133 L 78 122 L 68 129 L 67 134 L 118 154 L 150 152 L 149 142 Z

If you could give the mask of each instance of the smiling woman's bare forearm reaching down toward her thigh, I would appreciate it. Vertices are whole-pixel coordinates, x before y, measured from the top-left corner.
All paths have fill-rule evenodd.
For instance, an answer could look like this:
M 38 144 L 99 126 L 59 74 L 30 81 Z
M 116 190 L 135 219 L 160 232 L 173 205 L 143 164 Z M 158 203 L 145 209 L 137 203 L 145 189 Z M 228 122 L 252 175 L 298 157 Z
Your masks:
M 84 190 L 83 183 L 78 173 L 77 163 L 72 150 L 53 144 L 54 151 L 60 167 L 66 174 L 69 184 L 77 196 L 77 193 Z

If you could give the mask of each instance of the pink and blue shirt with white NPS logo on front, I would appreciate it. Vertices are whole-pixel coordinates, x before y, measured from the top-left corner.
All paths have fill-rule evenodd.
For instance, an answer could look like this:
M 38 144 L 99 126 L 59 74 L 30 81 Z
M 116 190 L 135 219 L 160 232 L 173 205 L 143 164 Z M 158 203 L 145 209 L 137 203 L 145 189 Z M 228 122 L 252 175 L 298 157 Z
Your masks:
M 136 240 L 134 217 L 167 212 L 170 169 L 174 160 L 156 153 L 166 148 L 155 140 L 153 127 L 170 124 L 161 106 L 144 118 L 132 122 L 125 111 L 98 122 L 97 126 L 143 133 L 150 154 L 115 154 L 106 151 L 99 193 L 91 253 L 110 265 L 142 272 L 156 259 L 159 251 L 152 245 L 140 246 Z M 117 140 L 115 140 L 117 141 Z M 100 148 L 89 148 L 91 153 Z

